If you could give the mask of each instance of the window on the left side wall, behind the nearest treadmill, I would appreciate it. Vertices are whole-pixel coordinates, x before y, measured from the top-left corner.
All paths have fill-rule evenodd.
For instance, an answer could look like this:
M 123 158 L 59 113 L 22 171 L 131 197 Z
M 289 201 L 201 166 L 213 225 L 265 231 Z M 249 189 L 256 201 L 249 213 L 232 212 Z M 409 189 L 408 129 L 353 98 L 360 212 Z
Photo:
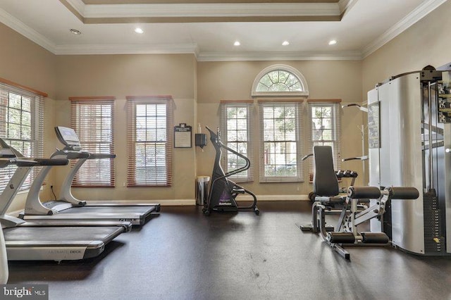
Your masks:
M 25 157 L 44 155 L 44 96 L 47 94 L 0 83 L 0 137 Z M 32 168 L 20 190 L 30 187 L 39 169 Z M 14 165 L 0 169 L 0 189 L 15 171 Z

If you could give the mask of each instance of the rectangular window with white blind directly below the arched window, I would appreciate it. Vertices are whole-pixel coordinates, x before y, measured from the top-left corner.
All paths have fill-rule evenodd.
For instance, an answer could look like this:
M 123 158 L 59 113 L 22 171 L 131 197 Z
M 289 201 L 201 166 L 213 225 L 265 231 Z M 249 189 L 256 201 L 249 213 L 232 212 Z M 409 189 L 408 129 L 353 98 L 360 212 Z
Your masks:
M 260 182 L 301 182 L 302 101 L 259 101 Z

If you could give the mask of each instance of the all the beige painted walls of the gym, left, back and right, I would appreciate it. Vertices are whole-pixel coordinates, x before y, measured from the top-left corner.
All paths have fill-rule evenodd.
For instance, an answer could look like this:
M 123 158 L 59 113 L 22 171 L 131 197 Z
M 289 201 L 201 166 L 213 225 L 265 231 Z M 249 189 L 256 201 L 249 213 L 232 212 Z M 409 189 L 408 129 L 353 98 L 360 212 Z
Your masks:
M 84 199 L 194 199 L 194 178 L 209 175 L 214 161 L 211 146 L 174 149 L 174 183 L 170 188 L 126 188 L 125 96 L 169 94 L 175 101 L 175 123 L 187 123 L 197 131 L 218 126 L 218 107 L 222 99 L 252 99 L 252 82 L 268 65 L 283 63 L 297 68 L 307 80 L 311 99 L 342 99 L 343 104 L 366 100 L 366 92 L 376 82 L 390 75 L 417 70 L 425 65 L 440 66 L 451 61 L 451 40 L 447 31 L 451 25 L 447 12 L 451 3 L 440 8 L 385 44 L 363 61 L 239 61 L 197 62 L 191 54 L 173 55 L 103 55 L 55 56 L 30 42 L 22 35 L 0 24 L 0 77 L 21 85 L 47 92 L 46 155 L 61 146 L 54 137 L 54 125 L 69 125 L 68 96 L 116 96 L 116 182 L 115 189 L 75 189 L 75 196 Z M 257 116 L 257 100 L 254 99 Z M 257 135 L 258 120 L 254 118 L 253 135 Z M 355 108 L 342 111 L 342 157 L 362 154 L 359 126 L 366 115 Z M 194 133 L 193 132 L 193 133 Z M 259 184 L 258 148 L 254 165 L 256 180 L 247 185 L 258 195 L 299 195 L 311 191 L 308 183 Z M 362 163 L 343 163 L 342 168 L 362 172 Z M 58 193 L 63 168 L 49 177 Z M 357 184 L 364 184 L 359 177 Z M 48 185 L 48 186 L 49 186 Z M 345 185 L 345 184 L 343 184 Z M 48 199 L 49 188 L 43 199 Z M 24 195 L 20 195 L 23 199 Z M 21 201 L 11 208 L 18 209 Z

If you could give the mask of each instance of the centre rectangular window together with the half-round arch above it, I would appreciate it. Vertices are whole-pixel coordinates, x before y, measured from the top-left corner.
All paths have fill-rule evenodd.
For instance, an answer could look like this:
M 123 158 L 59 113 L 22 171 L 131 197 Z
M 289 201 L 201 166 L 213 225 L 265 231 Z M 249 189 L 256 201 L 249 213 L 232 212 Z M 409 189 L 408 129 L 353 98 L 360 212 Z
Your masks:
M 302 74 L 289 65 L 261 70 L 252 85 L 259 99 L 260 182 L 302 182 L 302 109 L 309 96 Z M 294 99 L 287 99 L 295 97 Z

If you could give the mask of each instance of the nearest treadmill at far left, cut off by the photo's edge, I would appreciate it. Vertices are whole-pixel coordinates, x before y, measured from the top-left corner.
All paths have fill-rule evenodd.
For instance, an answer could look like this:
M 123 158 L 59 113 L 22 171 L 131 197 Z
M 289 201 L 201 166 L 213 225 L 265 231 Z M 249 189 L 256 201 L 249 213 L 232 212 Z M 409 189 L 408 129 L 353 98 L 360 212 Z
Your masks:
M 18 158 L 18 152 L 0 139 L 0 168 L 17 165 L 16 172 L 0 194 L 0 223 L 4 239 L 0 237 L 0 278 L 8 276 L 4 269 L 6 256 L 10 261 L 63 261 L 98 256 L 105 245 L 123 232 L 130 231 L 131 223 L 85 222 L 26 222 L 6 215 L 20 186 L 34 166 L 67 165 L 67 159 Z M 66 224 L 66 225 L 64 225 Z M 1 230 L 0 230 L 1 231 Z M 3 244 L 4 243 L 4 244 Z M 6 251 L 5 251 L 6 250 Z

